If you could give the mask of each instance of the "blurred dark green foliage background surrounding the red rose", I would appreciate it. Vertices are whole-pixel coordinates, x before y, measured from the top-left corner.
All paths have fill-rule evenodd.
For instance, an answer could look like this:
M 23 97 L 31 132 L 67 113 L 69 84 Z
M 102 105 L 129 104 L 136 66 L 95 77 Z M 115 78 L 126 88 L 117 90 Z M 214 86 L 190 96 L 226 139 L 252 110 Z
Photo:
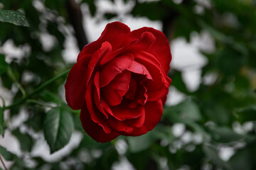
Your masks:
M 100 11 L 99 1 L 0 1 L 0 85 L 11 98 L 7 102 L 0 94 L 0 140 L 4 133 L 13 135 L 20 149 L 14 153 L 0 145 L 7 168 L 256 169 L 256 1 L 105 0 L 113 6 L 130 4 L 122 15 L 114 8 Z M 78 48 L 88 42 L 82 24 L 85 6 L 98 22 L 126 16 L 159 21 L 169 42 L 190 42 L 192 33 L 202 31 L 213 38 L 215 49 L 201 51 L 207 62 L 198 89 L 189 90 L 183 70 L 171 68 L 171 87 L 185 98 L 164 106 L 161 122 L 146 135 L 97 143 L 82 130 L 79 111 L 65 103 L 65 70 L 73 64 L 63 59 L 63 50 L 68 30 Z M 43 41 L 49 36 L 51 45 Z M 21 57 L 7 61 L 6 42 L 18 47 Z M 17 119 L 21 123 L 14 125 Z M 56 159 L 45 159 L 34 154 L 42 137 L 50 146 L 45 152 L 51 154 L 61 152 L 70 138 L 77 143 Z M 223 158 L 223 152 L 230 157 Z

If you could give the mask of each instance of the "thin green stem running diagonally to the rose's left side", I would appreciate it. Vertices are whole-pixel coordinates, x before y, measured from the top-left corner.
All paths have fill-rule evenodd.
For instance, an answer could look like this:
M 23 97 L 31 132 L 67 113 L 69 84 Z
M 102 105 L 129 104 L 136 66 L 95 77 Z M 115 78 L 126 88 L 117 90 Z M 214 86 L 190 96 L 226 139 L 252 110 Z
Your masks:
M 21 103 L 25 102 L 28 98 L 31 98 L 31 96 L 33 96 L 34 94 L 37 94 L 39 91 L 44 89 L 46 86 L 53 83 L 53 81 L 55 81 L 56 79 L 59 79 L 60 77 L 65 76 L 65 74 L 68 74 L 69 72 L 70 72 L 70 69 L 65 70 L 65 72 L 62 72 L 61 74 L 58 74 L 58 76 L 56 76 L 56 77 L 53 77 L 53 79 L 49 79 L 48 81 L 46 81 L 41 86 L 38 86 L 38 88 L 36 88 L 34 91 L 32 91 L 31 94 L 28 94 L 26 97 L 22 98 L 19 101 L 16 101 L 15 103 L 11 104 L 10 106 L 6 106 L 5 109 L 14 108 L 15 106 L 20 105 Z

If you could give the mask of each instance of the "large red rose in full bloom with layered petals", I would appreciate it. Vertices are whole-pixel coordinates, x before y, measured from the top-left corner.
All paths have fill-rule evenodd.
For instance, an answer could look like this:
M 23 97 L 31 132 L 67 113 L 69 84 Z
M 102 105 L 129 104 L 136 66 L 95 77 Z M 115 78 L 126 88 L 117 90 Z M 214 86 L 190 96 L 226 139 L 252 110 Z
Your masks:
M 97 142 L 143 135 L 161 119 L 170 62 L 161 31 L 131 32 L 123 23 L 109 23 L 78 55 L 65 83 L 66 100 L 81 109 L 82 127 Z

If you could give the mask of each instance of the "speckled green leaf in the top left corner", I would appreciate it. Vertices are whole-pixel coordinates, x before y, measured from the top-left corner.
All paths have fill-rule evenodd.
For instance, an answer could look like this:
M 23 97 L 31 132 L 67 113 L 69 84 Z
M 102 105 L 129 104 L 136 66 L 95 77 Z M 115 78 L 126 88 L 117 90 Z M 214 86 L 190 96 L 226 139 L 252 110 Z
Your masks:
M 19 11 L 0 10 L 0 21 L 4 23 L 13 23 L 16 26 L 29 27 L 26 16 Z

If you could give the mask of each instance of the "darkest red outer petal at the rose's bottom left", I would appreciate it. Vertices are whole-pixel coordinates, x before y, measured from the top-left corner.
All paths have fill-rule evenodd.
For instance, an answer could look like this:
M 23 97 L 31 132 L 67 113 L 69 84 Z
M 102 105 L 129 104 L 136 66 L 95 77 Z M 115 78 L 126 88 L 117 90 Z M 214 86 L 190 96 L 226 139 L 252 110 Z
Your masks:
M 97 142 L 110 142 L 110 140 L 114 140 L 114 138 L 119 136 L 119 134 L 114 131 L 107 134 L 100 125 L 93 122 L 86 107 L 81 110 L 80 120 L 85 132 Z

